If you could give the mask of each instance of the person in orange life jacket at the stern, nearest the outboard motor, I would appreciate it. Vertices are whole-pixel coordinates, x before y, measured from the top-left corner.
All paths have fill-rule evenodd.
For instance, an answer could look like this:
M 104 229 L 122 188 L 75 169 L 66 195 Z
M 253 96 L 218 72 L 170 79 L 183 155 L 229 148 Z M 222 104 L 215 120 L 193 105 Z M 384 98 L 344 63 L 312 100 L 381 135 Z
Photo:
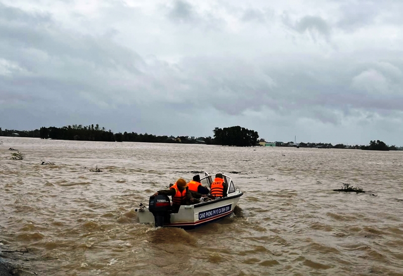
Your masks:
M 178 179 L 169 190 L 157 191 L 153 196 L 168 195 L 172 196 L 172 207 L 178 208 L 180 205 L 191 205 L 199 203 L 200 200 L 193 198 L 184 179 Z M 176 205 L 176 206 L 175 206 Z

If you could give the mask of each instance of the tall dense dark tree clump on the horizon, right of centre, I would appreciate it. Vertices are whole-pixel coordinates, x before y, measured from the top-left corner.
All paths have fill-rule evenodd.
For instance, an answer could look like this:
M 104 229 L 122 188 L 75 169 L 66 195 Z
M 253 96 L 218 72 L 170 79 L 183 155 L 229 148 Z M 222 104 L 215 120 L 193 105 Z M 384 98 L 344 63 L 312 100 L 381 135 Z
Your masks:
M 229 128 L 215 128 L 214 143 L 222 146 L 250 147 L 256 146 L 259 135 L 254 130 L 241 128 L 240 126 Z

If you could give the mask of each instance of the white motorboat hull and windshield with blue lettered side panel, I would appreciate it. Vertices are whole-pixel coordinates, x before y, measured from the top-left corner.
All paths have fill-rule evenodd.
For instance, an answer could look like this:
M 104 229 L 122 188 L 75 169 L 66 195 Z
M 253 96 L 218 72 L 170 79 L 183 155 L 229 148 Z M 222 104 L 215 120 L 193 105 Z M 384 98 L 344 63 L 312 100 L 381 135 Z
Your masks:
M 200 183 L 210 189 L 214 177 L 215 175 L 209 175 L 205 172 L 205 177 L 200 178 Z M 149 206 L 141 203 L 140 208 L 136 209 L 140 223 L 154 223 L 156 227 L 194 229 L 229 216 L 234 212 L 243 192 L 234 186 L 231 177 L 223 174 L 223 178 L 225 183 L 228 184 L 226 197 L 193 205 L 181 205 L 177 213 L 172 211 L 172 202 L 170 202 L 168 196 L 151 196 Z

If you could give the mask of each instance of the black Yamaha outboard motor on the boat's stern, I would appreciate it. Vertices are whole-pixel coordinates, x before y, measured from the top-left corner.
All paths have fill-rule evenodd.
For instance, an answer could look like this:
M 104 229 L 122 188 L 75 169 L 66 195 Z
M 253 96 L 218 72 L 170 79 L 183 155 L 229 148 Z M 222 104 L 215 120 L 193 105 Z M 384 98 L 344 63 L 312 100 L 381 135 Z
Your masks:
M 148 209 L 154 215 L 155 227 L 163 227 L 171 223 L 171 200 L 166 195 L 150 196 Z

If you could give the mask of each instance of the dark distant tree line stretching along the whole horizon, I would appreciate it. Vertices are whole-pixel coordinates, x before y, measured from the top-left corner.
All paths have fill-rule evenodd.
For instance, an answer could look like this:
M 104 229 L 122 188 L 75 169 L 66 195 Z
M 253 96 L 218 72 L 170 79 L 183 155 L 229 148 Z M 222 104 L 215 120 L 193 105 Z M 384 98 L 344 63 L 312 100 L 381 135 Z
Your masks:
M 124 132 L 114 134 L 111 130 L 106 131 L 100 128 L 98 124 L 83 126 L 73 125 L 61 128 L 41 127 L 35 130 L 2 130 L 0 128 L 0 136 L 20 136 L 20 137 L 40 137 L 42 139 L 57 140 L 79 140 L 79 141 L 108 141 L 108 142 L 148 142 L 148 143 L 182 143 L 182 144 L 207 144 L 207 145 L 223 145 L 223 146 L 255 146 L 259 135 L 256 131 L 241 128 L 240 126 L 218 128 L 213 130 L 214 138 L 198 137 L 189 138 L 189 136 L 157 136 L 153 134 L 138 134 L 136 132 Z M 17 134 L 17 135 L 16 135 Z M 395 145 L 388 146 L 380 140 L 371 140 L 369 145 L 344 145 L 331 143 L 303 143 L 295 144 L 292 141 L 284 143 L 280 146 L 284 147 L 310 147 L 310 148 L 345 148 L 345 149 L 363 149 L 363 150 L 403 150 Z

